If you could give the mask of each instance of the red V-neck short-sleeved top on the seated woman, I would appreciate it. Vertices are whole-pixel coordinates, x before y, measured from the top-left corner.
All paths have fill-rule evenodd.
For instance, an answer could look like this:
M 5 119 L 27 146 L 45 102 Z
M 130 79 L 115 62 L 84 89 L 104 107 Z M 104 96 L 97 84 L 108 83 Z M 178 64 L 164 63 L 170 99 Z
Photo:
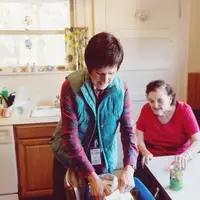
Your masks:
M 191 107 L 179 101 L 176 102 L 176 110 L 167 124 L 162 124 L 150 105 L 145 104 L 136 127 L 144 132 L 147 149 L 154 156 L 176 155 L 184 152 L 190 146 L 191 136 L 199 131 Z

